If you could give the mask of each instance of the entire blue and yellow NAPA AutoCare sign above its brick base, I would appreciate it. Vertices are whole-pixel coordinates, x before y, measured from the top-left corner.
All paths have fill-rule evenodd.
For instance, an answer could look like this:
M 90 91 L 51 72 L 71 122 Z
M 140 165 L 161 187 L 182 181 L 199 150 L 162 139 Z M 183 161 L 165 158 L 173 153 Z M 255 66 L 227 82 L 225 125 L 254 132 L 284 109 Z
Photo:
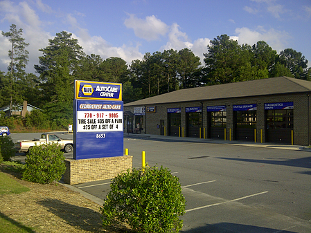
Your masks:
M 122 84 L 75 80 L 73 158 L 123 156 Z

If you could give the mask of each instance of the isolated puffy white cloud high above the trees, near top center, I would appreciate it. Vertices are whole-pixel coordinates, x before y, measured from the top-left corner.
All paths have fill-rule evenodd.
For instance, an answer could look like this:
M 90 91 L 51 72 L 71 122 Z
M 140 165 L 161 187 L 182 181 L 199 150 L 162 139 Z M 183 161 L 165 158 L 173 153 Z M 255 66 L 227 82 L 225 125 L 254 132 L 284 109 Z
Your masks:
M 160 35 L 164 36 L 168 32 L 168 26 L 154 15 L 139 19 L 135 15 L 125 19 L 124 24 L 127 28 L 132 28 L 136 37 L 148 41 L 159 39 Z

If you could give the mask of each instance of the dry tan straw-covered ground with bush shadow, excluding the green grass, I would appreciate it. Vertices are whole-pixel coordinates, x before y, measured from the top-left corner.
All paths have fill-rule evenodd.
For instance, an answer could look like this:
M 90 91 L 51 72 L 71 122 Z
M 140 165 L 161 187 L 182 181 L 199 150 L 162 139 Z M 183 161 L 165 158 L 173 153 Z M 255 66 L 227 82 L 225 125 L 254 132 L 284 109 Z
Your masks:
M 33 227 L 35 232 L 128 232 L 122 225 L 103 229 L 100 205 L 78 192 L 58 183 L 40 185 L 8 175 L 30 188 L 1 196 L 0 212 L 12 222 Z

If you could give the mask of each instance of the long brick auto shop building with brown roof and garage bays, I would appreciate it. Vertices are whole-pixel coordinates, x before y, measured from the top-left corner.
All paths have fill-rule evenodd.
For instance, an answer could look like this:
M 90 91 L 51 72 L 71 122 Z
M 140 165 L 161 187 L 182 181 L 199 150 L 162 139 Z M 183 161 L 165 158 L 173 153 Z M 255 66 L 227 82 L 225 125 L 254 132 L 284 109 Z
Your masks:
M 124 104 L 125 133 L 310 145 L 311 82 L 291 77 L 181 89 Z

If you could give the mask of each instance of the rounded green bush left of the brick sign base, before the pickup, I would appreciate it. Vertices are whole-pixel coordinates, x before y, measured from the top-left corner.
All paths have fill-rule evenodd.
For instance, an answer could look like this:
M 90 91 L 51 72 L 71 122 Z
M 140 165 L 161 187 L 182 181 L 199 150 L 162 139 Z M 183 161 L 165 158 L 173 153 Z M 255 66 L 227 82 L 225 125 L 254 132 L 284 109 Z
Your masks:
M 66 170 L 64 159 L 64 152 L 60 151 L 60 145 L 56 143 L 30 148 L 23 180 L 40 184 L 60 180 Z

